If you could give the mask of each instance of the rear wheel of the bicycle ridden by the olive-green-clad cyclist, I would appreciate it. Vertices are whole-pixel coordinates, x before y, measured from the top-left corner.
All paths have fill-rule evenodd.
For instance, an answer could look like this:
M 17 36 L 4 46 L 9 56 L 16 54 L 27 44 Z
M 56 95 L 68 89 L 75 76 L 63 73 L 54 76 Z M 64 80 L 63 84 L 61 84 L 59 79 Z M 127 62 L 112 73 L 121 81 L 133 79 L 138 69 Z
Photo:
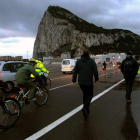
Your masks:
M 16 99 L 18 102 L 19 102 L 19 104 L 20 104 L 20 108 L 22 109 L 23 108 L 23 105 L 24 105 L 24 99 L 23 99 L 23 96 L 19 96 L 19 93 L 18 92 L 11 92 L 11 93 L 9 93 L 9 94 L 7 94 L 6 96 L 5 96 L 5 99 L 6 98 L 14 98 L 14 99 Z

